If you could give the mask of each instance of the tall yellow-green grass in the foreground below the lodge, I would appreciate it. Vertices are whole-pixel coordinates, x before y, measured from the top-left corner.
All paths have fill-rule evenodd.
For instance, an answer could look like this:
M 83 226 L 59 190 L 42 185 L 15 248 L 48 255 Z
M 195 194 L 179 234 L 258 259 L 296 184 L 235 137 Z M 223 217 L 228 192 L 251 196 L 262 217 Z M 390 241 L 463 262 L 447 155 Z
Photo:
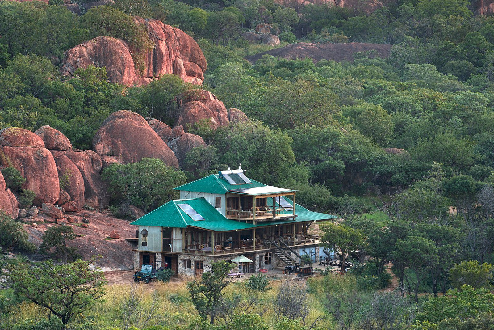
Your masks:
M 316 280 L 316 278 L 311 279 Z M 322 280 L 317 280 L 315 283 L 319 285 Z M 304 282 L 301 282 L 305 284 Z M 271 301 L 276 296 L 281 282 L 272 282 L 266 292 L 259 293 L 259 304 L 252 313 L 262 314 L 266 324 L 271 328 L 274 327 L 277 320 L 272 308 Z M 90 321 L 101 330 L 123 329 L 122 312 L 125 309 L 125 299 L 129 297 L 131 285 L 113 285 L 107 286 L 107 294 L 97 303 L 92 305 L 85 313 L 85 317 L 79 320 L 78 323 Z M 0 298 L 6 295 L 6 290 L 0 290 Z M 309 315 L 306 317 L 306 324 L 312 324 L 318 316 L 326 313 L 324 307 L 324 295 L 320 296 L 318 292 L 321 289 L 316 289 L 316 294 L 308 295 Z M 184 329 L 191 323 L 197 323 L 199 318 L 192 301 L 189 299 L 189 292 L 186 288 L 186 282 L 174 283 L 155 283 L 153 287 L 139 283 L 137 285 L 136 296 L 142 298 L 141 305 L 144 306 L 144 315 L 146 309 L 153 306 L 153 302 L 159 309 L 160 317 L 156 320 L 160 325 L 167 326 L 171 329 Z M 246 299 L 251 292 L 241 282 L 234 282 L 225 289 L 226 297 L 241 295 Z M 265 312 L 264 312 L 265 311 Z M 264 312 L 264 313 L 263 313 Z M 23 302 L 16 305 L 15 308 L 9 308 L 8 320 L 10 324 L 20 323 L 24 320 L 34 320 L 43 317 L 42 309 L 31 302 Z M 156 323 L 156 322 L 155 322 Z M 152 326 L 155 323 L 148 324 Z M 136 325 L 135 323 L 133 324 Z M 318 323 L 320 327 L 325 329 L 333 329 L 330 319 L 323 320 Z

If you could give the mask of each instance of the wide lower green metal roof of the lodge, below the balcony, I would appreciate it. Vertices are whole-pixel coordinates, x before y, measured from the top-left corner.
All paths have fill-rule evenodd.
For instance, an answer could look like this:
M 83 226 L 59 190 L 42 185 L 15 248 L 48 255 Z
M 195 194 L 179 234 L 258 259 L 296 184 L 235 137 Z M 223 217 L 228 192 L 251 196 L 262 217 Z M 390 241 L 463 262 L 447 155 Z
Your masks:
M 287 199 L 287 201 L 290 202 L 289 199 Z M 178 206 L 180 204 L 190 205 L 196 212 L 205 218 L 205 220 L 194 221 L 194 219 L 187 215 L 187 213 Z M 195 199 L 170 201 L 165 205 L 158 207 L 154 211 L 140 217 L 134 222 L 131 222 L 130 224 L 175 228 L 193 226 L 213 231 L 234 231 L 279 224 L 290 224 L 303 221 L 321 221 L 336 218 L 334 215 L 309 211 L 305 207 L 298 204 L 295 204 L 295 214 L 298 215 L 295 220 L 262 221 L 258 222 L 256 225 L 253 225 L 252 223 L 227 219 L 223 214 L 221 214 L 221 212 L 209 204 L 204 197 L 201 197 Z

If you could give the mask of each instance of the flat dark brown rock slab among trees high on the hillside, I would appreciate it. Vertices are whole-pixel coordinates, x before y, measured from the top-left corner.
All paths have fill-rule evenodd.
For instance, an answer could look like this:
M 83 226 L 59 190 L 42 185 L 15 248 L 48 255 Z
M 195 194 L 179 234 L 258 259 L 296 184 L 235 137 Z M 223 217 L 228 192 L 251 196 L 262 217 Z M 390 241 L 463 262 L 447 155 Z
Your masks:
M 389 44 L 377 44 L 377 43 L 361 43 L 361 42 L 348 42 L 348 43 L 329 43 L 329 44 L 315 44 L 308 42 L 299 42 L 289 44 L 288 46 L 275 48 L 263 53 L 247 56 L 247 60 L 250 63 L 255 63 L 264 54 L 269 54 L 274 57 L 281 57 L 287 59 L 305 58 L 310 57 L 314 63 L 319 62 L 322 59 L 342 61 L 348 60 L 353 62 L 353 54 L 360 51 L 375 50 L 381 57 L 387 57 L 391 51 L 391 45 Z

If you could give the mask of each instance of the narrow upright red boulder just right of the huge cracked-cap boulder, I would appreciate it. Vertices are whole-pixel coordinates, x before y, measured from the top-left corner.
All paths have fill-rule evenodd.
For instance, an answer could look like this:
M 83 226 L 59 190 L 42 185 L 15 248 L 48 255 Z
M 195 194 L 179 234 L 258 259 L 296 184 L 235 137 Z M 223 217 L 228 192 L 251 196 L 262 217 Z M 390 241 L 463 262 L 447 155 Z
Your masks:
M 63 205 L 73 201 L 76 205 L 76 210 L 81 209 L 84 206 L 84 179 L 82 178 L 81 171 L 72 162 L 72 160 L 67 157 L 67 153 L 64 151 L 52 151 L 53 159 L 57 165 L 58 177 L 67 180 L 63 187 L 64 191 L 69 195 L 69 199 L 66 198 L 57 201 L 57 205 L 64 207 Z M 73 205 L 70 207 L 73 209 Z M 68 210 L 69 211 L 69 210 Z M 70 210 L 74 211 L 74 210 Z

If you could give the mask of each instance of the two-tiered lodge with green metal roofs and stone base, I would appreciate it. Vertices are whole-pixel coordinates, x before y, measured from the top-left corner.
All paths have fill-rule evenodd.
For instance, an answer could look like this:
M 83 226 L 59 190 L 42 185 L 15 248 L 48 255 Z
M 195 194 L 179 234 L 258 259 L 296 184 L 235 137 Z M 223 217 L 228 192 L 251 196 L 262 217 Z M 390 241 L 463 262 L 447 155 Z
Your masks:
M 295 190 L 247 178 L 242 169 L 219 171 L 174 188 L 172 200 L 132 222 L 138 226 L 134 267 L 156 263 L 179 277 L 209 271 L 212 262 L 243 254 L 242 272 L 299 265 L 303 254 L 319 260 L 319 236 L 307 231 L 334 215 L 295 202 Z

